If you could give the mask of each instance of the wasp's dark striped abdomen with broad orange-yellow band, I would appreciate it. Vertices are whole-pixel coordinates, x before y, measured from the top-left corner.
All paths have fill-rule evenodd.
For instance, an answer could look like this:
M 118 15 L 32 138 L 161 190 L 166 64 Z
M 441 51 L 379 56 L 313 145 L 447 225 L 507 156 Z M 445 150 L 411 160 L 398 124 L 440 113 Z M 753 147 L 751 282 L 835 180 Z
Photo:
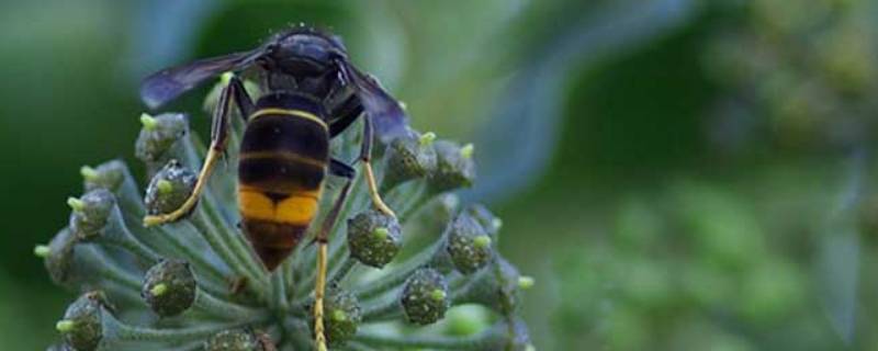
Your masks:
M 329 134 L 316 111 L 262 107 L 247 123 L 238 162 L 238 210 L 254 250 L 273 271 L 317 213 Z

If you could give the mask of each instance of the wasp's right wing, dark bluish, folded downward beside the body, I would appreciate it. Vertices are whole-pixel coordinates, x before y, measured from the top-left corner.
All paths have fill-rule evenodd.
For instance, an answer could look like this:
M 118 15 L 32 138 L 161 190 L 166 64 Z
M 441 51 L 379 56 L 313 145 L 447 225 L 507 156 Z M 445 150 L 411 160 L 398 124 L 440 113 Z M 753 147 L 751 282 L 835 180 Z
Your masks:
M 345 61 L 341 69 L 348 81 L 357 88 L 357 98 L 363 105 L 367 117 L 372 121 L 382 143 L 390 143 L 408 131 L 405 111 L 396 99 L 387 93 L 378 80 L 359 71 L 353 65 Z

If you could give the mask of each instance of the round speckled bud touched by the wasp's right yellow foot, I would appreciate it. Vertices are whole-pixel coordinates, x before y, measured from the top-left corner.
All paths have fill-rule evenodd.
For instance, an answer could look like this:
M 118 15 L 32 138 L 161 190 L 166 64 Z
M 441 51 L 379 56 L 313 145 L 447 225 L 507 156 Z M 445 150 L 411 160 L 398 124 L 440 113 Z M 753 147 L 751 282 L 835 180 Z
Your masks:
M 399 252 L 402 229 L 396 218 L 368 210 L 348 220 L 350 254 L 374 268 L 387 264 Z

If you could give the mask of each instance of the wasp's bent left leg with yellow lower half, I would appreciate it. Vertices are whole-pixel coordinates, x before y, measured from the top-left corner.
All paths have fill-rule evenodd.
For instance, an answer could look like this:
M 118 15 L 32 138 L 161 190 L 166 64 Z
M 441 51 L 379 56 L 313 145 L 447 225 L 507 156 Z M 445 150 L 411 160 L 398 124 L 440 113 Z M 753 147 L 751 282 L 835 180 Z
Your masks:
M 170 213 L 144 217 L 145 226 L 154 226 L 180 219 L 180 217 L 187 215 L 195 206 L 201 192 L 204 190 L 204 185 L 207 184 L 207 180 L 211 178 L 216 161 L 226 149 L 226 141 L 228 140 L 228 111 L 232 107 L 230 103 L 233 100 L 238 105 L 241 115 L 249 115 L 252 112 L 254 103 L 244 90 L 244 84 L 236 77 L 232 77 L 228 86 L 226 86 L 219 94 L 219 102 L 214 110 L 211 125 L 211 148 L 207 150 L 207 156 L 204 158 L 204 165 L 201 167 L 201 172 L 199 172 L 199 178 L 195 182 L 195 188 L 192 190 L 192 194 L 187 197 L 185 202 L 183 202 L 179 208 Z

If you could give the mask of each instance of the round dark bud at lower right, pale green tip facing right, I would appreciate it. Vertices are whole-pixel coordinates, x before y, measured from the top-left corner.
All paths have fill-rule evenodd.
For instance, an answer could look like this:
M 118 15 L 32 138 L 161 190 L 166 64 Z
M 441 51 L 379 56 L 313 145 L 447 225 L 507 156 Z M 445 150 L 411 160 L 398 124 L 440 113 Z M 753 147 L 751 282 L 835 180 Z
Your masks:
M 406 319 L 421 326 L 442 319 L 450 307 L 446 278 L 434 269 L 420 269 L 412 274 L 399 298 Z

